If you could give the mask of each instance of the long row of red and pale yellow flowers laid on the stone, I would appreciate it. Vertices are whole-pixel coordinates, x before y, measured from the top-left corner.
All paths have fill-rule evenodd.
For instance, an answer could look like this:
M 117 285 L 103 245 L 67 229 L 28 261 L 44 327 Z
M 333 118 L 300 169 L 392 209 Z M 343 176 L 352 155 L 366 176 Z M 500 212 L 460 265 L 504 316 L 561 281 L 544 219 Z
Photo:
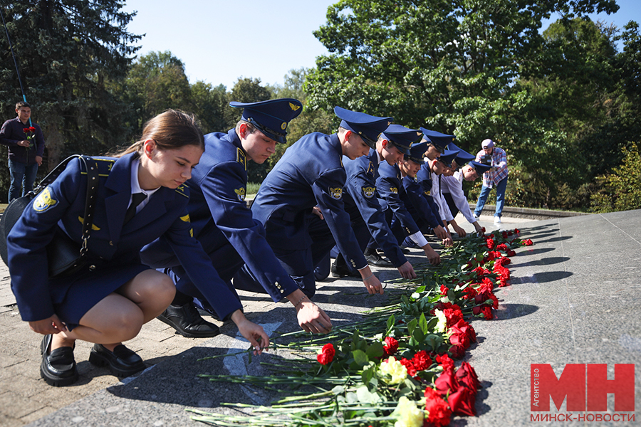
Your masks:
M 281 334 L 273 347 L 299 357 L 269 364 L 273 375 L 201 375 L 290 394 L 272 406 L 224 404 L 249 408 L 245 416 L 188 411 L 216 426 L 447 426 L 453 415 L 475 416 L 481 383 L 455 359 L 476 342 L 469 321 L 494 317 L 494 287 L 509 285 L 509 256 L 532 244 L 518 233 L 469 236 L 444 249 L 440 265 L 397 280 L 390 304 L 359 322 L 323 336 Z

